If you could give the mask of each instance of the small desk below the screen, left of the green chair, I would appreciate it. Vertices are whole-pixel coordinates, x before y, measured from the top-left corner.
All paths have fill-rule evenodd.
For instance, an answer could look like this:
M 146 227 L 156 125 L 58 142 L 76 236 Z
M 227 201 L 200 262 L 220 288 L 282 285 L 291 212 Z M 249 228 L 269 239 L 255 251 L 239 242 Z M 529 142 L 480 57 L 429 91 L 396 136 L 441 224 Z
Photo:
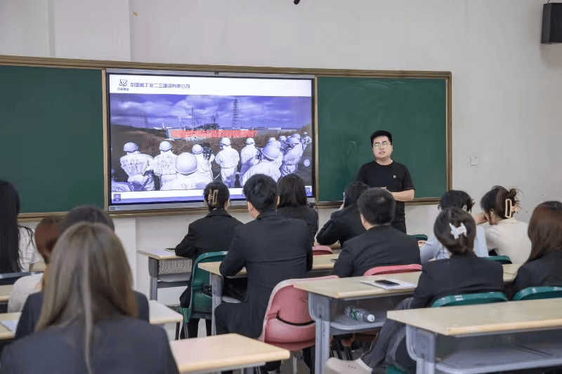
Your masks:
M 187 287 L 191 276 L 191 259 L 178 257 L 164 249 L 138 250 L 148 256 L 150 276 L 150 300 L 158 299 L 158 288 Z

